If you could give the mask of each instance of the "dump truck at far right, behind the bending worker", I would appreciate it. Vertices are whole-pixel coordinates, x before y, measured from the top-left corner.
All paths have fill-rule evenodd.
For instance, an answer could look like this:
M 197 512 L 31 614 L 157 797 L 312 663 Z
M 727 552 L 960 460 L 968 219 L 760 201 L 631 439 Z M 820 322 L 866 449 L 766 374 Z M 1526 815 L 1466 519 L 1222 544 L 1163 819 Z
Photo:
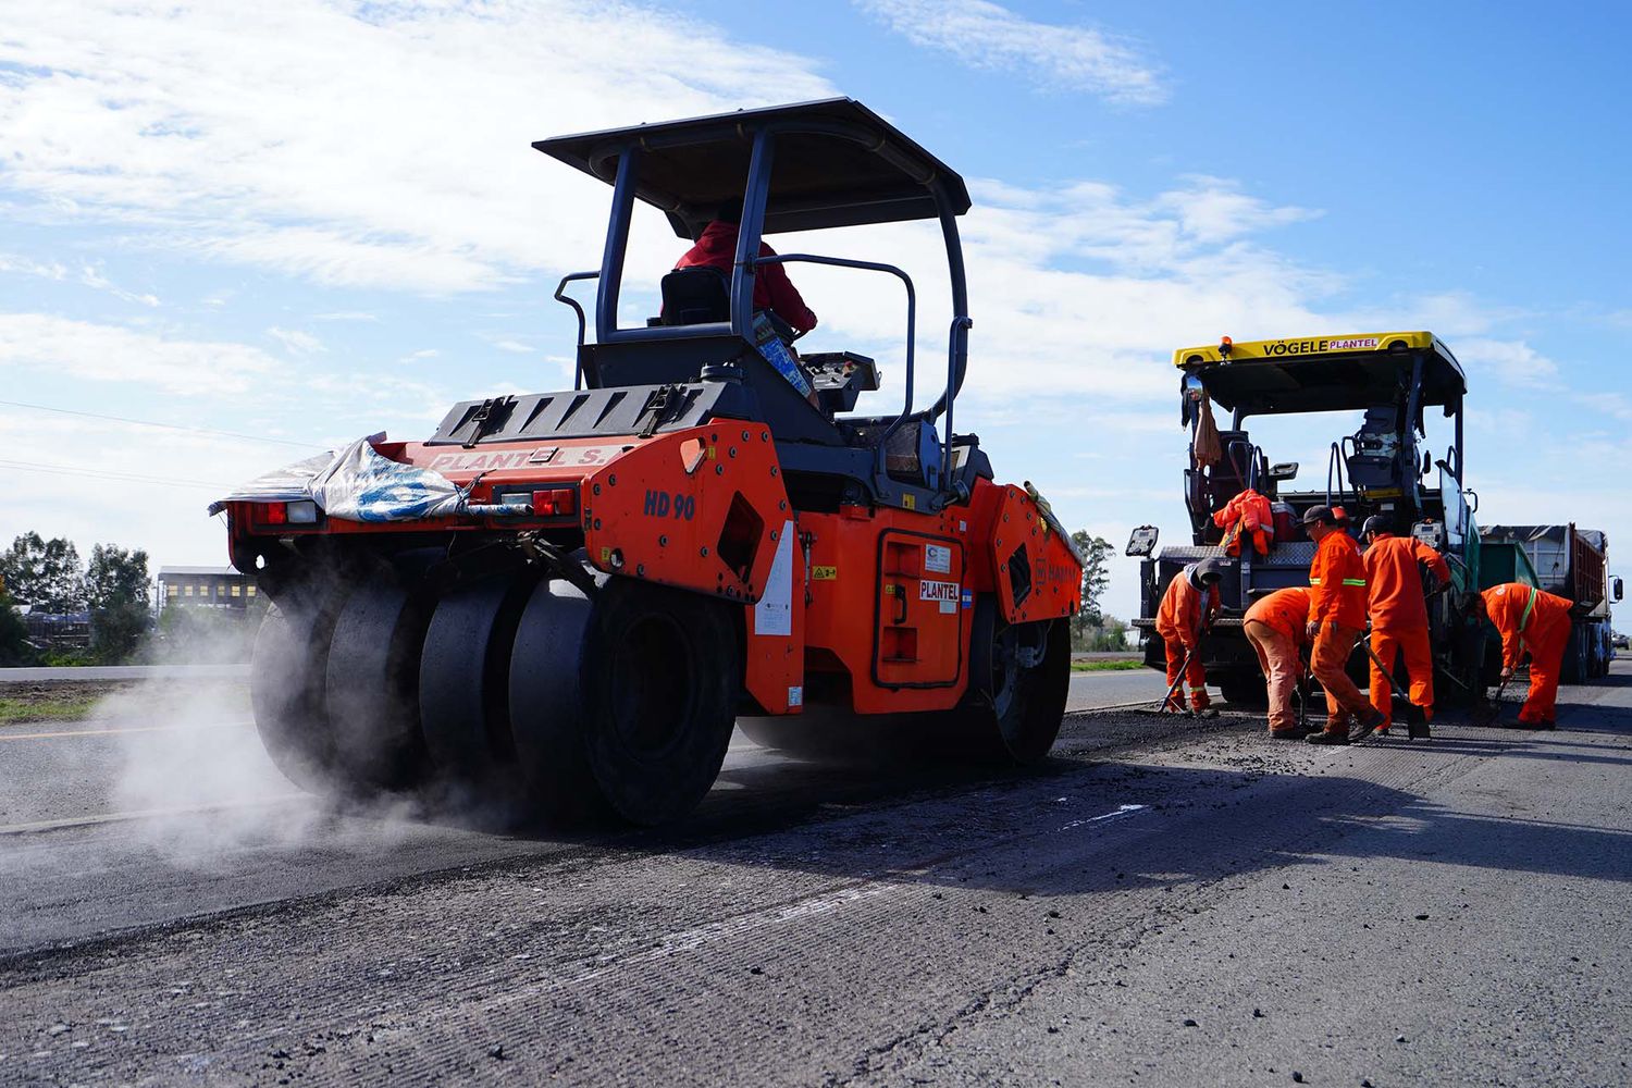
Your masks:
M 1598 529 L 1565 525 L 1492 525 L 1480 530 L 1487 586 L 1531 581 L 1549 594 L 1573 602 L 1570 644 L 1563 651 L 1565 683 L 1598 680 L 1614 661 L 1609 605 L 1622 599 L 1624 586 L 1609 574 L 1609 538 Z M 1521 564 L 1519 555 L 1524 563 Z M 1501 577 L 1511 569 L 1513 577 Z

